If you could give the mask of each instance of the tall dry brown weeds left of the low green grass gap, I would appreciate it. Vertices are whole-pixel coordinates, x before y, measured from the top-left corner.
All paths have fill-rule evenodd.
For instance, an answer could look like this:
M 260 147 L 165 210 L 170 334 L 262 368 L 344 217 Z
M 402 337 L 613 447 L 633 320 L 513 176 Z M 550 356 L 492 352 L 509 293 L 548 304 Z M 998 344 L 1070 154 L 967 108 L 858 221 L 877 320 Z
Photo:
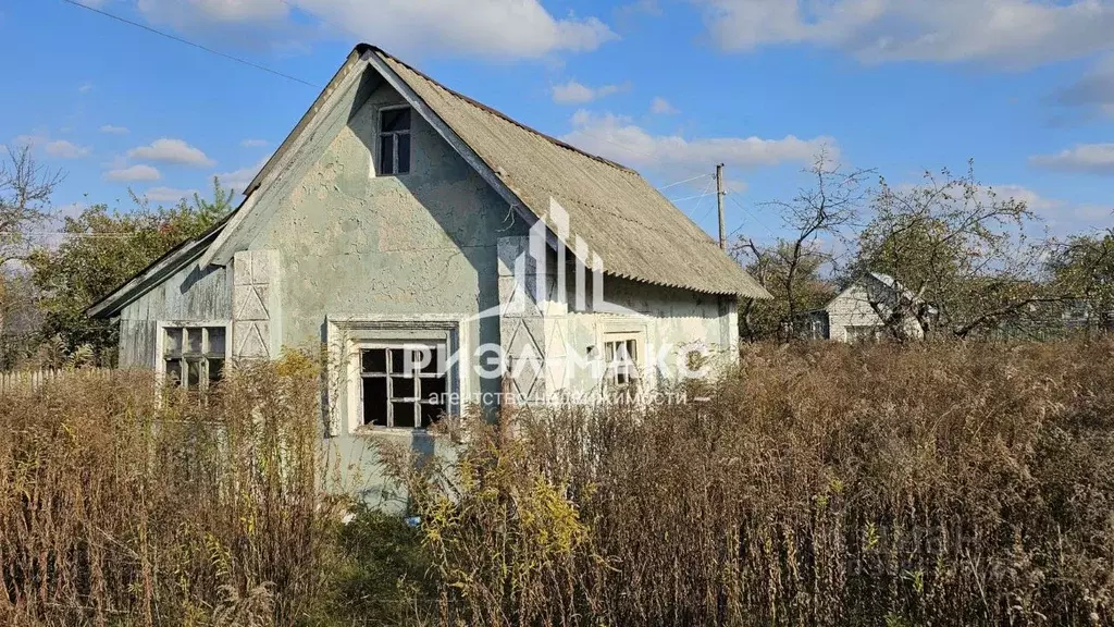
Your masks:
M 320 392 L 296 357 L 205 397 L 150 375 L 0 398 L 0 624 L 290 625 L 328 581 Z

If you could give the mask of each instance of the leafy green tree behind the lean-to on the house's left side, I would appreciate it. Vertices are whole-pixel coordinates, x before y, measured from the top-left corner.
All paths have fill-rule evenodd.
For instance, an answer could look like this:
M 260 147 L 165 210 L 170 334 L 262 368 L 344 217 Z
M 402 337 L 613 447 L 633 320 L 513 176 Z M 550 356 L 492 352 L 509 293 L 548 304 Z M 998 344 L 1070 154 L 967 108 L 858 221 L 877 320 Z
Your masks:
M 92 205 L 67 218 L 66 238 L 56 249 L 31 255 L 35 284 L 45 314 L 42 335 L 60 338 L 65 350 L 91 348 L 97 360 L 111 364 L 118 341 L 115 325 L 89 319 L 85 310 L 120 287 L 174 247 L 195 238 L 232 209 L 233 192 L 213 181 L 213 200 L 194 194 L 173 208 L 152 208 L 134 193 L 135 211 Z

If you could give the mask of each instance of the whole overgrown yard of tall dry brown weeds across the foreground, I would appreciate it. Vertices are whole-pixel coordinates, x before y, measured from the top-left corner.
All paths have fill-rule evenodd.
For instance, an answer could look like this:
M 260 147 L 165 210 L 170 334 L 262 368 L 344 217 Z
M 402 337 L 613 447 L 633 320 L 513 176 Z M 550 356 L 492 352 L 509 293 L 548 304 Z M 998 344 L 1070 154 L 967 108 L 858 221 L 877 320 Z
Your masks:
M 1110 339 L 756 345 L 706 403 L 455 421 L 382 452 L 413 527 L 334 495 L 319 380 L 6 393 L 0 623 L 1114 620 Z

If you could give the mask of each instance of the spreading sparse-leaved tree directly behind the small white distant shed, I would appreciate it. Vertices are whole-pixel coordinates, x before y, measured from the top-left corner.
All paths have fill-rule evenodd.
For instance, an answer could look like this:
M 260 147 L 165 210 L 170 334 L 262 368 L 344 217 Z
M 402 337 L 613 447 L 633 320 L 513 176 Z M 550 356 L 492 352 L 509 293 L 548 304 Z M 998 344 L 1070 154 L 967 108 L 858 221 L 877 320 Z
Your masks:
M 870 306 L 897 340 L 967 338 L 1023 329 L 1049 306 L 1077 297 L 1046 272 L 1054 240 L 1034 237 L 1039 219 L 1018 199 L 1001 199 L 974 174 L 926 173 L 920 185 L 885 180 L 859 237 L 852 273 L 893 279 Z

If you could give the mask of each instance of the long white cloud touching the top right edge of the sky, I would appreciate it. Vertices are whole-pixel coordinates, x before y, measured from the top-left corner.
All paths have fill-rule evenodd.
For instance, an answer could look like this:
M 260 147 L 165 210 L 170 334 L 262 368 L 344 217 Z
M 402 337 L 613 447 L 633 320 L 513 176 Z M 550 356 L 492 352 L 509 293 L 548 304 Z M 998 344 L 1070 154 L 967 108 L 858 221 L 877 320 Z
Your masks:
M 812 44 L 864 61 L 1027 67 L 1114 48 L 1107 0 L 692 0 L 727 50 Z

